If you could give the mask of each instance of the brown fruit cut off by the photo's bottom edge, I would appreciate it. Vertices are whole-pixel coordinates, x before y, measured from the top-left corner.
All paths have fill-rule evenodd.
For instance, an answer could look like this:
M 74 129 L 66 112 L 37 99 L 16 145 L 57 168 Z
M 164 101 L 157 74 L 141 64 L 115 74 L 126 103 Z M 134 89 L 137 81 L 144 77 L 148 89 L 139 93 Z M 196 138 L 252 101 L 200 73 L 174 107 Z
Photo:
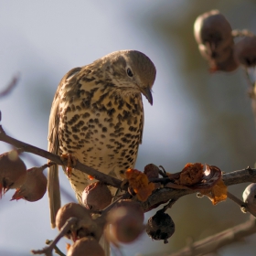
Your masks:
M 98 241 L 93 238 L 76 240 L 70 247 L 67 256 L 104 256 L 105 253 Z

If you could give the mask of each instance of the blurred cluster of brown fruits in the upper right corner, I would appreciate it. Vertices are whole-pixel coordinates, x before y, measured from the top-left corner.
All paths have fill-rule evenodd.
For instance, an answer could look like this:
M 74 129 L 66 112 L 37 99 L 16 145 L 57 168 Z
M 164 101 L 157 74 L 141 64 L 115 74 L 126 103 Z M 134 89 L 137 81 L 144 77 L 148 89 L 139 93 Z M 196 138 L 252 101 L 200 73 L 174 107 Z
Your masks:
M 208 60 L 211 72 L 230 72 L 240 65 L 256 65 L 256 37 L 251 33 L 232 31 L 229 21 L 218 10 L 198 16 L 194 24 L 194 35 L 199 51 Z M 234 37 L 243 38 L 235 43 Z

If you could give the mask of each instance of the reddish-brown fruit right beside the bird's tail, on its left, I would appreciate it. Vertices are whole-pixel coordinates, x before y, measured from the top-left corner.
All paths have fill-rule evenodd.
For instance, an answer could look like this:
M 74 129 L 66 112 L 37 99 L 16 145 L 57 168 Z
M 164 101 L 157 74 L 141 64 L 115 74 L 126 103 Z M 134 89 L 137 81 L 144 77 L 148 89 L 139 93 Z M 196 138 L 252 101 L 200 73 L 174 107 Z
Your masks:
M 12 200 L 24 199 L 29 202 L 35 202 L 44 197 L 48 185 L 48 180 L 43 174 L 43 170 L 46 167 L 48 165 L 28 169 L 26 182 L 16 189 Z

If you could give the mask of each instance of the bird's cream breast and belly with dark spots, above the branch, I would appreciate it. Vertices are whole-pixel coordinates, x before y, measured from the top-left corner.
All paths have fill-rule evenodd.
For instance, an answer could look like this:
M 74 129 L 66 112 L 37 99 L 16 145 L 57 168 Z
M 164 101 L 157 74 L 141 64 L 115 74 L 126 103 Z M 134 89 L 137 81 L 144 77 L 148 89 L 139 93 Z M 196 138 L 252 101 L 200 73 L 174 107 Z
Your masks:
M 122 99 L 100 90 L 84 94 L 87 97 L 60 101 L 60 153 L 120 176 L 135 164 L 143 129 L 141 97 Z

